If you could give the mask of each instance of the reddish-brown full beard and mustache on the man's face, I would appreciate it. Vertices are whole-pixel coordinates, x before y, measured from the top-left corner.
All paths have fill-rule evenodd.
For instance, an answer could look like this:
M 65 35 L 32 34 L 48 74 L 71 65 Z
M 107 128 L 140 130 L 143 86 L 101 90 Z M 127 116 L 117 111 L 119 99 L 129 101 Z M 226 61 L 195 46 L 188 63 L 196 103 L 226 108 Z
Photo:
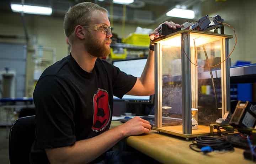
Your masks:
M 97 58 L 106 57 L 110 54 L 110 47 L 106 46 L 106 43 L 111 43 L 111 39 L 108 38 L 104 40 L 103 43 L 100 42 L 95 36 L 93 36 L 90 32 L 85 40 L 84 46 L 89 54 L 95 56 Z

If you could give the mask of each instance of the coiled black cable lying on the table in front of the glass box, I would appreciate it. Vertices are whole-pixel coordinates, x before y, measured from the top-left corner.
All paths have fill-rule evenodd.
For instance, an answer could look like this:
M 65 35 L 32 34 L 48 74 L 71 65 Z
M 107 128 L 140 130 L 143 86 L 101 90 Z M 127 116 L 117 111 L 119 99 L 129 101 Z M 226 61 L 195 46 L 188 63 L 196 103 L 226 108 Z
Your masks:
M 192 146 L 196 145 L 198 148 L 202 148 L 205 146 L 210 146 L 213 151 L 218 150 L 226 150 L 226 151 L 233 151 L 234 148 L 230 142 L 226 141 L 224 138 L 217 138 L 217 137 L 197 137 L 192 141 L 192 144 L 189 147 L 196 152 L 201 152 L 201 150 L 196 150 Z

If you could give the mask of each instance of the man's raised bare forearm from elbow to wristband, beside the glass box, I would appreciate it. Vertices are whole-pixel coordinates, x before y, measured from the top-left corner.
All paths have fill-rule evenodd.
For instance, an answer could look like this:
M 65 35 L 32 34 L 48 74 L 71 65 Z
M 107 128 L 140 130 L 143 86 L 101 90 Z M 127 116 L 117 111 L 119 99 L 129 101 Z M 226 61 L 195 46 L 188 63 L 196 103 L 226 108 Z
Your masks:
M 140 76 L 140 80 L 145 88 L 151 93 L 154 93 L 155 89 L 155 65 L 154 65 L 154 51 L 149 50 L 148 60 Z

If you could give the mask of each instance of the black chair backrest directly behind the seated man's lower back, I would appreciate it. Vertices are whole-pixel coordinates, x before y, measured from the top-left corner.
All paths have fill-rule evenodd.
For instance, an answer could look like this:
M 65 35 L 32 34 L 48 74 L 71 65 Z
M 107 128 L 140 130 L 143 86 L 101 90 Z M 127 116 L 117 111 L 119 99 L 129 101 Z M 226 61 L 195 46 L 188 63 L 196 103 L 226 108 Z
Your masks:
M 21 117 L 12 124 L 9 134 L 10 164 L 30 163 L 30 151 L 34 139 L 35 116 Z

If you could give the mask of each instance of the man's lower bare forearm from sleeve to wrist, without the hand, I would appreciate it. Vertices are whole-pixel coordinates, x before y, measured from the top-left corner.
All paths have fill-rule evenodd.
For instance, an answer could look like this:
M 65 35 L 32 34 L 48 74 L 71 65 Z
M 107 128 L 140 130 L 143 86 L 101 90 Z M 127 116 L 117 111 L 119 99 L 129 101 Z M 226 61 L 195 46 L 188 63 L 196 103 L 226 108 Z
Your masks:
M 118 126 L 96 137 L 77 141 L 73 146 L 47 149 L 47 157 L 50 163 L 89 163 L 124 137 L 126 134 Z

